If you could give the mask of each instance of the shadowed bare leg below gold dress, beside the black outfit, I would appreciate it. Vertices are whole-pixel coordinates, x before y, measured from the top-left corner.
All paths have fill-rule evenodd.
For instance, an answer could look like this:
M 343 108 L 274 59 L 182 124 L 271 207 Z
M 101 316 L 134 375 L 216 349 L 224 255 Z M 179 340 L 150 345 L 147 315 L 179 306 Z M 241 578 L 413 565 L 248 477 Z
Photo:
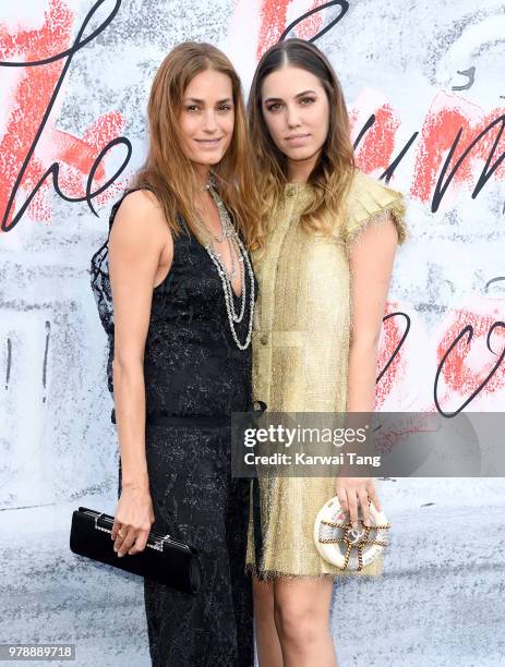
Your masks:
M 252 578 L 254 630 L 260 667 L 284 667 L 282 652 L 274 620 L 274 582 Z

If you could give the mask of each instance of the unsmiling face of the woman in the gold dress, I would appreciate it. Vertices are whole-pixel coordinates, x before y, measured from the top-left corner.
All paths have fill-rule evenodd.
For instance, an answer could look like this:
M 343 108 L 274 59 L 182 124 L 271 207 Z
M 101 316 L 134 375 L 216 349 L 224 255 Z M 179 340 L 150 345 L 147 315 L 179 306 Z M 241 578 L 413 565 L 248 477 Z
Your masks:
M 304 162 L 310 172 L 329 128 L 328 98 L 317 76 L 291 65 L 272 72 L 262 86 L 262 112 L 290 171 Z

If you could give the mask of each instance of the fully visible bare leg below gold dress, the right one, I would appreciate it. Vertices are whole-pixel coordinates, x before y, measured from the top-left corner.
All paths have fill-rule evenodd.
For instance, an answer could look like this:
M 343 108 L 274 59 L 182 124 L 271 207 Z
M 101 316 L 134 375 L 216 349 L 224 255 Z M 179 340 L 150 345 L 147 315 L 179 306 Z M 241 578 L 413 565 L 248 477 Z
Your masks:
M 337 667 L 329 627 L 332 592 L 330 579 L 274 581 L 274 618 L 284 667 Z

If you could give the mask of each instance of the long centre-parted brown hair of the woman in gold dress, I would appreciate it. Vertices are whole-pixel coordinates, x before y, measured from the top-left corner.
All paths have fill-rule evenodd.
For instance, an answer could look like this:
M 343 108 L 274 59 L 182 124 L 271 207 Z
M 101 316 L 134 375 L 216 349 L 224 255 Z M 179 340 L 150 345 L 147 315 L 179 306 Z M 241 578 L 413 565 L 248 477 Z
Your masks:
M 264 246 L 267 220 L 279 204 L 287 183 L 287 158 L 275 145 L 263 116 L 262 86 L 268 74 L 287 65 L 317 76 L 329 101 L 329 128 L 320 158 L 309 177 L 314 196 L 300 217 L 308 231 L 330 233 L 332 219 L 342 213 L 345 195 L 354 172 L 349 117 L 340 83 L 327 58 L 303 39 L 286 39 L 270 47 L 256 68 L 248 100 L 251 140 L 256 153 L 258 191 L 262 201 L 262 229 L 258 246 Z M 329 214 L 324 215 L 324 214 Z M 328 219 L 329 218 L 329 219 Z

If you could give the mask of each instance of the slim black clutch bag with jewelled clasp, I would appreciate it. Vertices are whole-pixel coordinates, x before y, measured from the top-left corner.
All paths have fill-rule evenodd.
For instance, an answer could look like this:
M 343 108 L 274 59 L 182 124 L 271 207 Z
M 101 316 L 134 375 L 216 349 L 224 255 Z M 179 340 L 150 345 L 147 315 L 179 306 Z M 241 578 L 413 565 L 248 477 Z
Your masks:
M 151 531 L 143 551 L 125 554 L 119 558 L 110 538 L 113 521 L 115 518 L 109 514 L 80 507 L 72 514 L 71 551 L 133 574 L 147 577 L 178 591 L 197 593 L 202 573 L 199 554 L 194 547 L 170 535 Z

